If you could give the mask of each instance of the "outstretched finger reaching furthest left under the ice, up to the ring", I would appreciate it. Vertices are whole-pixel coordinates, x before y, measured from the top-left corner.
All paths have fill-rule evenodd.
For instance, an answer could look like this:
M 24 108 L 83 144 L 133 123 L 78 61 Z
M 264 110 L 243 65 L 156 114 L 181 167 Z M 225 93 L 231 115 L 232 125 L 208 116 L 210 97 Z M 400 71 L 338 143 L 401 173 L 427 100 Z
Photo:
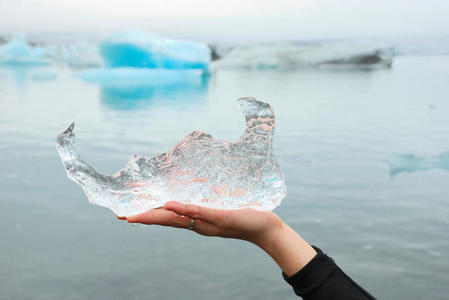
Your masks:
M 129 223 L 188 227 L 190 220 L 165 209 L 151 209 L 144 213 L 127 217 Z

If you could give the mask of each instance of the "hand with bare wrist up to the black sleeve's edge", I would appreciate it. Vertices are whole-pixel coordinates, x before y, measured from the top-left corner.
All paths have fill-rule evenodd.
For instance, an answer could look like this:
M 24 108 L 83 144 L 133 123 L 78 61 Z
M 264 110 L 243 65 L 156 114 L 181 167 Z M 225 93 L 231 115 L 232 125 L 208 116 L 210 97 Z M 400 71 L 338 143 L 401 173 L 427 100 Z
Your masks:
M 192 230 L 199 234 L 236 238 L 256 244 L 276 261 L 287 276 L 296 273 L 316 255 L 315 249 L 269 211 L 212 209 L 170 201 L 164 207 L 119 219 L 128 220 L 129 223 L 181 228 L 188 228 L 193 219 Z

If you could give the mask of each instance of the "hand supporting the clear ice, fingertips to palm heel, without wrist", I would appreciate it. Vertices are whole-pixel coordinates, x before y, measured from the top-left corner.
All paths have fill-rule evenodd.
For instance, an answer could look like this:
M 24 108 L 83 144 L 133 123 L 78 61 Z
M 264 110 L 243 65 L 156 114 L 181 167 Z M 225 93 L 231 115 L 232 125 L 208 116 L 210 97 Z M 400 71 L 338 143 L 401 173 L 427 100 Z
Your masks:
M 264 247 L 282 227 L 282 220 L 272 212 L 251 208 L 225 210 L 167 202 L 164 207 L 131 216 L 130 223 L 187 228 L 194 219 L 193 231 L 206 236 L 236 238 Z

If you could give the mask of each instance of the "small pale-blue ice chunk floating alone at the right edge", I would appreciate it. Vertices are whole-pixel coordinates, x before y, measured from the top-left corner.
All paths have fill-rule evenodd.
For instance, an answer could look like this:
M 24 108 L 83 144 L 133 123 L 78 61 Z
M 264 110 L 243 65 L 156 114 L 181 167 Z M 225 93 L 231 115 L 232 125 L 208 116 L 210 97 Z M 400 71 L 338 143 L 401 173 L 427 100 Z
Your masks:
M 413 154 L 392 156 L 388 162 L 390 174 L 394 176 L 402 172 L 417 172 L 432 169 L 449 171 L 449 151 L 435 157 L 417 157 Z

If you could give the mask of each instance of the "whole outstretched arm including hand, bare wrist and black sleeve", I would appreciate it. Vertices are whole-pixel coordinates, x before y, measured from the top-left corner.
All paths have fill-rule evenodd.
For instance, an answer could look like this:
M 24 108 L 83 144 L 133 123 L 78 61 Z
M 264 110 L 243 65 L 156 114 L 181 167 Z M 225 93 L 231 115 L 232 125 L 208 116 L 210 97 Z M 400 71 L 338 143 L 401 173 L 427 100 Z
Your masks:
M 186 218 L 187 217 L 187 218 Z M 191 228 L 206 236 L 247 240 L 265 250 L 283 271 L 285 280 L 304 300 L 374 299 L 318 248 L 311 247 L 277 215 L 254 209 L 218 210 L 167 202 L 128 217 L 128 222 Z

